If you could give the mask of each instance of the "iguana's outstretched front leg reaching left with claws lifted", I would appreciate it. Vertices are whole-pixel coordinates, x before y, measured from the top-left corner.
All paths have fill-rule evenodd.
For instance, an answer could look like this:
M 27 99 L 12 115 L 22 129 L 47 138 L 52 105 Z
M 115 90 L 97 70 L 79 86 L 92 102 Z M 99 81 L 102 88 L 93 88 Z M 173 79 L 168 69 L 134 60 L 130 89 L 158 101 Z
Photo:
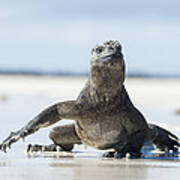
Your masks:
M 23 128 L 16 132 L 11 132 L 0 144 L 0 150 L 6 152 L 7 147 L 10 148 L 13 143 L 35 133 L 40 128 L 50 126 L 61 119 L 76 119 L 78 114 L 75 101 L 61 102 L 50 106 L 33 118 Z

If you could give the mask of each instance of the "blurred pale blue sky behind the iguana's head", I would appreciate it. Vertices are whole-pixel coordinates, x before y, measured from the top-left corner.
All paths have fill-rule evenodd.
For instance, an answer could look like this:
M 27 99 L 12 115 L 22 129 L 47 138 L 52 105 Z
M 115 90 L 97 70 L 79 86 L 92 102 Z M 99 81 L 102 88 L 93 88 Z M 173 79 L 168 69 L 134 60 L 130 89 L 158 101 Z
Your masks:
M 1 73 L 89 71 L 90 50 L 123 46 L 129 74 L 180 76 L 178 0 L 0 1 Z

